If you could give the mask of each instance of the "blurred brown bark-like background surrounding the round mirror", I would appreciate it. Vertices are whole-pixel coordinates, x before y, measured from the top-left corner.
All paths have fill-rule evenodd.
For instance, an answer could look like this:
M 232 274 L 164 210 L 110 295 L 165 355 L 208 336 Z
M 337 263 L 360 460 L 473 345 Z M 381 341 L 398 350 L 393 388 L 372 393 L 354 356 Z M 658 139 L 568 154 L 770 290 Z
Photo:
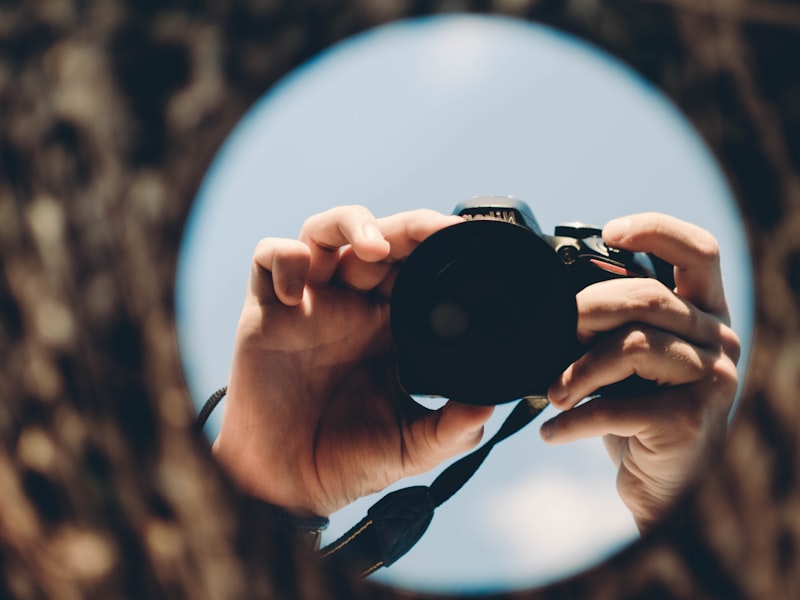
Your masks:
M 212 156 L 278 78 L 447 11 L 627 61 L 738 195 L 758 334 L 713 472 L 605 565 L 519 598 L 800 595 L 800 9 L 747 0 L 0 3 L 0 598 L 395 598 L 247 508 L 191 427 L 173 280 Z

